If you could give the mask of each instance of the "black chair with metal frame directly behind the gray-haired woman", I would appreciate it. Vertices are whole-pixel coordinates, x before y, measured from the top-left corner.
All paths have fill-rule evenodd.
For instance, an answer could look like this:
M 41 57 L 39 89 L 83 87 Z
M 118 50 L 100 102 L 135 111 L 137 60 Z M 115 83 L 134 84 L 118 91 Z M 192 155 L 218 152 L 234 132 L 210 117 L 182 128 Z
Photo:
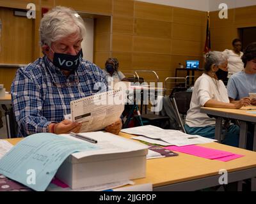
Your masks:
M 188 91 L 175 92 L 173 96 L 171 96 L 171 101 L 175 109 L 175 115 L 177 117 L 177 121 L 179 122 L 180 130 L 184 133 L 186 133 L 184 128 L 184 119 L 190 107 L 191 97 L 192 92 Z M 183 117 L 181 118 L 180 115 Z

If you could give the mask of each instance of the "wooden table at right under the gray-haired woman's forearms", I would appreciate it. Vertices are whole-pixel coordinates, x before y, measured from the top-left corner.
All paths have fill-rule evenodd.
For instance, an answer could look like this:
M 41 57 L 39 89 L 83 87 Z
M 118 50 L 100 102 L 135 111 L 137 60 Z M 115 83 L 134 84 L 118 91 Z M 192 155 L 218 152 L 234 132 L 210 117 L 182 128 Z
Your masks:
M 252 110 L 250 110 L 252 109 Z M 246 148 L 247 140 L 247 129 L 248 122 L 252 122 L 255 126 L 256 124 L 256 106 L 246 106 L 241 109 L 228 109 L 228 108 L 201 108 L 201 113 L 206 113 L 216 117 L 216 128 L 215 128 L 215 138 L 216 140 L 221 140 L 221 128 L 223 118 L 236 119 L 240 122 L 240 135 L 239 135 L 239 147 Z M 253 133 L 253 150 L 256 151 L 256 127 Z

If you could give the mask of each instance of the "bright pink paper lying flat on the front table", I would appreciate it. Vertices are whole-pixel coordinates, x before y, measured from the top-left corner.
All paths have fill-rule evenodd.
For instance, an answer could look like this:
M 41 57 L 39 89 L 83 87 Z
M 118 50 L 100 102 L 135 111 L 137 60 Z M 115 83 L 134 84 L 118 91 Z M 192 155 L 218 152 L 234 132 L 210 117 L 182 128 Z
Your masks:
M 231 152 L 210 149 L 207 147 L 200 147 L 197 145 L 188 145 L 188 146 L 183 146 L 183 147 L 168 146 L 168 147 L 164 147 L 164 148 L 168 149 L 168 150 L 191 154 L 191 155 L 198 156 L 198 157 L 203 157 L 206 159 L 216 159 L 218 161 L 230 161 L 232 159 L 237 159 L 239 157 L 243 157 L 242 155 L 234 154 Z

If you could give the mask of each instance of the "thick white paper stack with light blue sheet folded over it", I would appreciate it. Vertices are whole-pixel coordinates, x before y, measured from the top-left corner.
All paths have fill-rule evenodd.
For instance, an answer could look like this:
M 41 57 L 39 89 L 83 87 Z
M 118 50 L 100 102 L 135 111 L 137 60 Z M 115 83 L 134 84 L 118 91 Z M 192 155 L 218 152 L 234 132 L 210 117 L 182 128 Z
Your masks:
M 147 145 L 111 133 L 81 134 L 98 143 L 51 133 L 28 136 L 0 159 L 0 173 L 35 191 L 45 191 L 54 175 L 72 189 L 145 177 Z

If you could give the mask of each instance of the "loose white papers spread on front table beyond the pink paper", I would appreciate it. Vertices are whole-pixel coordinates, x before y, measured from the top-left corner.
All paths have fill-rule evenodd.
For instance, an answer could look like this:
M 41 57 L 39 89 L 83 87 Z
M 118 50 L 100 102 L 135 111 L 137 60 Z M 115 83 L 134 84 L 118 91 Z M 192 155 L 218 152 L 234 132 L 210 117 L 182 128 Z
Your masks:
M 162 146 L 175 145 L 180 147 L 217 141 L 199 135 L 188 135 L 186 133 L 182 133 L 181 131 L 173 129 L 162 129 L 150 125 L 139 126 L 136 128 L 126 128 L 122 129 L 121 131 L 132 135 L 141 135 L 132 137 L 134 140 L 141 140 Z

